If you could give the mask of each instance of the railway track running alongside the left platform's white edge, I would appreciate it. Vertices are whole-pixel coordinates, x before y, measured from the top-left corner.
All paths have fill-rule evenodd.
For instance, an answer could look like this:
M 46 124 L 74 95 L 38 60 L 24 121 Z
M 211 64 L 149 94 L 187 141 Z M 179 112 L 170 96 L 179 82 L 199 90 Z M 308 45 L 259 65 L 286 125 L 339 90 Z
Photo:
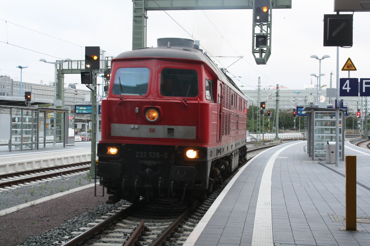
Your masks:
M 65 164 L 53 167 L 18 171 L 0 175 L 0 188 L 17 186 L 19 184 L 50 179 L 57 176 L 84 172 L 90 169 L 91 162 Z

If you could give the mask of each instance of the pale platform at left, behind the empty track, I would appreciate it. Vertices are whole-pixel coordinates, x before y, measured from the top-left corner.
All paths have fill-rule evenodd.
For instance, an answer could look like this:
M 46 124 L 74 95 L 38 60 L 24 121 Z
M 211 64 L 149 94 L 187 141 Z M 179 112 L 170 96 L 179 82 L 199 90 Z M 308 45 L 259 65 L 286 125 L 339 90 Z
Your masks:
M 7 145 L 0 146 L 0 174 L 88 161 L 91 161 L 90 141 L 65 147 L 47 143 L 46 147 L 39 149 L 11 152 Z

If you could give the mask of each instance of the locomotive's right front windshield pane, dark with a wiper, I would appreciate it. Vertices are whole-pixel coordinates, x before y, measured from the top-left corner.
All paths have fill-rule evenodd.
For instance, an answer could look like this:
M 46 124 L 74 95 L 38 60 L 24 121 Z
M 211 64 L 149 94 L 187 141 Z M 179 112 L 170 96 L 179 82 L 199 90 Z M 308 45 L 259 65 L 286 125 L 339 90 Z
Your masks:
M 160 90 L 165 97 L 196 97 L 199 93 L 198 73 L 192 69 L 164 68 Z

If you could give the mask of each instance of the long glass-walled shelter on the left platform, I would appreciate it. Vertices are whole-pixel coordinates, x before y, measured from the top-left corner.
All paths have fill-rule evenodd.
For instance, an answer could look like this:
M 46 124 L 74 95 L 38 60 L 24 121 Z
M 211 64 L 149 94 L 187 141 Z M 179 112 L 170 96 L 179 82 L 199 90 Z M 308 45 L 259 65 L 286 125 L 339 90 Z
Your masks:
M 8 144 L 9 151 L 38 149 L 47 143 L 74 145 L 68 112 L 60 108 L 0 106 L 0 142 Z

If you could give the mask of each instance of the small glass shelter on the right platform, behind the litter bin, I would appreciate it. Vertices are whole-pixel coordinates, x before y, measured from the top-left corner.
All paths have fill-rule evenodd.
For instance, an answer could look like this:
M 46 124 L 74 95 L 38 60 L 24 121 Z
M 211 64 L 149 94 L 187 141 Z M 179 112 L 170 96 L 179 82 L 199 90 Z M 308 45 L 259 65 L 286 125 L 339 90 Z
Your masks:
M 336 142 L 336 129 L 339 131 L 339 157 L 344 160 L 344 110 L 339 110 L 339 125 L 336 126 L 333 108 L 305 107 L 309 111 L 307 118 L 307 153 L 312 160 L 326 159 L 326 146 L 329 142 Z

